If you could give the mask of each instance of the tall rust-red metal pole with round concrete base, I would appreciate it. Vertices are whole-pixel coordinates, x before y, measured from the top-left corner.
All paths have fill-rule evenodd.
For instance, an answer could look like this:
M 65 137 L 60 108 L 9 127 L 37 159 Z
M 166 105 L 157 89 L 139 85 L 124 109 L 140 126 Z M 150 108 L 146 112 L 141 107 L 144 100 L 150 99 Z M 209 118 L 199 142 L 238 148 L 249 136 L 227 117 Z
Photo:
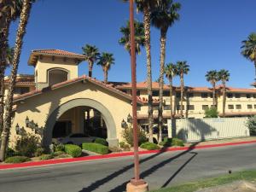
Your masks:
M 134 8 L 133 0 L 130 0 L 130 44 L 131 44 L 131 91 L 132 91 L 132 125 L 133 125 L 133 148 L 134 148 L 134 178 L 127 183 L 127 192 L 148 191 L 148 184 L 140 179 L 139 156 L 137 141 L 137 80 L 136 80 L 136 53 L 134 38 Z

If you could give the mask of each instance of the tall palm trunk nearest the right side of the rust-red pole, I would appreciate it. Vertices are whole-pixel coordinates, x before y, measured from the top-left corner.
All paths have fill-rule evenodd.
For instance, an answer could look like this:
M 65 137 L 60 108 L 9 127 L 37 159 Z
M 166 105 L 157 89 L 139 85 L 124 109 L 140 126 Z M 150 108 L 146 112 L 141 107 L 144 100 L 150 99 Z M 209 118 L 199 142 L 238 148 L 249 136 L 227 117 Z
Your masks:
M 151 72 L 151 49 L 150 49 L 150 9 L 149 5 L 143 8 L 143 20 L 145 29 L 145 49 L 147 55 L 147 89 L 148 89 L 148 141 L 153 143 L 153 96 L 152 96 L 152 72 Z

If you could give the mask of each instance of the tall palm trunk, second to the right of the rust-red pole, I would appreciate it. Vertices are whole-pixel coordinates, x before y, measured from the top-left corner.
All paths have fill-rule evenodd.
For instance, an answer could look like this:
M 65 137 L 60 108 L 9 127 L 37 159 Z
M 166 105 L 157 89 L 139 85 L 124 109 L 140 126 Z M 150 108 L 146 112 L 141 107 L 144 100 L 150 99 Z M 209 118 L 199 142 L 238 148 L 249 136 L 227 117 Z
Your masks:
M 159 88 L 159 109 L 158 109 L 158 120 L 159 120 L 159 140 L 162 141 L 162 126 L 163 126 L 163 90 L 164 90 L 164 70 L 166 60 L 166 31 L 161 30 L 160 37 L 160 88 Z

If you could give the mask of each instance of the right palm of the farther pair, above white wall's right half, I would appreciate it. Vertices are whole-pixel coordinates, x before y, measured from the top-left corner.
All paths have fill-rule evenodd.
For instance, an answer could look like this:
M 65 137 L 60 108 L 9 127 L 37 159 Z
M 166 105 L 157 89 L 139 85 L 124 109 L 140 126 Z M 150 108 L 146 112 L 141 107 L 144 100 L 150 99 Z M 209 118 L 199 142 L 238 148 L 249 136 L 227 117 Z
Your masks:
M 222 103 L 222 113 L 223 117 L 225 117 L 225 107 L 226 107 L 226 82 L 230 80 L 230 72 L 228 70 L 220 70 L 218 72 L 218 79 L 222 82 L 222 97 L 223 97 L 223 103 Z

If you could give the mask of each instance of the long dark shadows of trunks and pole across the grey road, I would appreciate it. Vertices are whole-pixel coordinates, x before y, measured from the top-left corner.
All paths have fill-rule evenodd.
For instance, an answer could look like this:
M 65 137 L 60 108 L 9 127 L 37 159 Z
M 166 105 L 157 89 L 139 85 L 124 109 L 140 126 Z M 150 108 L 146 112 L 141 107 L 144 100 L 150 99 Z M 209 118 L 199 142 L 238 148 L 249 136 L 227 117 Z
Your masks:
M 163 161 L 160 161 L 159 164 L 155 165 L 155 166 L 152 166 L 150 167 L 148 170 L 144 171 L 141 173 L 141 177 L 147 177 L 149 176 L 150 174 L 156 172 L 158 169 L 160 169 L 160 167 L 162 166 L 165 166 L 166 164 L 170 163 L 172 160 L 176 160 L 177 158 L 181 157 L 182 155 L 184 154 L 188 154 L 189 152 L 191 152 L 195 146 L 197 145 L 198 143 L 193 143 L 192 145 L 189 146 L 189 149 L 186 150 L 186 151 L 183 151 L 182 153 L 180 154 L 177 154 L 175 156 L 173 156 L 172 158 L 170 159 L 167 159 L 167 160 L 163 160 Z M 145 158 L 143 160 L 140 160 L 140 164 L 143 164 L 144 162 L 148 161 L 148 160 L 152 160 L 154 159 L 155 157 L 159 156 L 160 154 L 163 154 L 166 152 L 166 148 L 162 148 L 160 153 L 158 154 L 153 154 L 151 156 L 149 156 L 148 158 Z M 194 154 L 191 158 L 189 158 L 189 160 L 187 160 L 183 166 L 181 166 L 177 172 L 175 172 L 172 177 L 170 177 L 166 183 L 162 186 L 162 187 L 165 187 L 168 183 L 170 183 L 172 181 L 172 179 L 174 177 L 177 176 L 177 174 L 179 172 L 182 171 L 183 167 L 186 166 L 187 164 L 189 164 L 189 162 L 195 158 L 196 154 L 195 152 L 191 152 L 190 154 Z M 124 172 L 127 172 L 128 170 L 130 170 L 131 168 L 133 168 L 133 164 L 129 165 L 129 166 L 125 166 L 124 168 L 120 169 L 119 171 L 117 172 L 113 172 L 112 174 L 108 175 L 107 177 L 104 177 L 100 180 L 97 180 L 95 183 L 91 183 L 90 186 L 88 187 L 85 187 L 81 190 L 79 190 L 79 192 L 91 192 L 97 188 L 99 188 L 100 186 L 102 186 L 103 184 L 105 183 L 108 183 L 109 181 L 111 181 L 112 179 L 114 179 L 115 177 L 118 177 L 119 175 L 121 175 L 122 173 Z M 125 183 L 121 183 L 119 186 L 115 187 L 114 189 L 111 189 L 109 192 L 121 192 L 121 191 L 125 191 L 125 187 L 126 187 L 126 183 L 128 183 L 129 181 L 125 181 Z

